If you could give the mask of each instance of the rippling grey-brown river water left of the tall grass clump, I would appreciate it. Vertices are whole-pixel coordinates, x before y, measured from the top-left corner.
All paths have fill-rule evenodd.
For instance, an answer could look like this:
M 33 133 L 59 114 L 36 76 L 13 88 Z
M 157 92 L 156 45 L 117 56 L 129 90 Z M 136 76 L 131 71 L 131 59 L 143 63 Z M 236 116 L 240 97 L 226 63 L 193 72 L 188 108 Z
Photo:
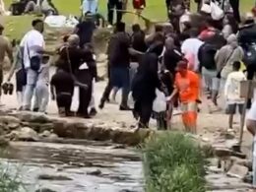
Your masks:
M 23 192 L 144 191 L 142 163 L 134 149 L 89 141 L 65 143 L 11 143 L 1 155 L 1 165 L 12 176 L 19 175 Z

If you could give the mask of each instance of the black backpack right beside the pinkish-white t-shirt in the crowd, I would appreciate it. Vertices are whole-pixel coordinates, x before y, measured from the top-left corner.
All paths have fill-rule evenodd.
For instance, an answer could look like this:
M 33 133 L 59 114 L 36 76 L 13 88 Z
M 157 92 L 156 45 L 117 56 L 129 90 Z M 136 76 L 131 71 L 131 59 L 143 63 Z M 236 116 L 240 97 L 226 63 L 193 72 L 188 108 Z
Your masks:
M 198 52 L 198 59 L 201 67 L 205 67 L 208 70 L 216 69 L 215 55 L 218 48 L 216 45 L 205 42 Z

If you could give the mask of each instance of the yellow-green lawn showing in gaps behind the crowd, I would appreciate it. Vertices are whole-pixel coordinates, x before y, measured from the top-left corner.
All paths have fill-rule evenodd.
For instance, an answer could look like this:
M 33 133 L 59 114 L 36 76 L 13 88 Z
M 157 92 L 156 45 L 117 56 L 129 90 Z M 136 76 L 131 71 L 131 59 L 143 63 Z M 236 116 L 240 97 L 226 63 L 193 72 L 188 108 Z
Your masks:
M 191 0 L 193 1 L 193 0 Z M 8 8 L 12 0 L 5 0 L 6 7 Z M 80 16 L 80 0 L 53 0 L 56 7 L 59 9 L 61 14 L 64 15 L 76 15 Z M 99 0 L 99 12 L 106 15 L 106 2 L 107 0 Z M 131 2 L 129 0 L 129 2 Z M 147 8 L 143 12 L 146 17 L 155 21 L 166 20 L 166 10 L 164 6 L 164 0 L 147 0 Z M 130 3 L 131 4 L 131 3 Z M 242 0 L 241 10 L 247 12 L 253 6 L 253 0 Z M 195 7 L 192 5 L 192 7 Z M 129 5 L 129 10 L 132 10 Z M 132 15 L 126 14 L 125 21 L 129 24 L 132 22 Z M 10 38 L 21 38 L 25 32 L 31 29 L 31 22 L 33 16 L 17 16 L 17 17 L 5 17 L 4 24 L 6 26 L 6 35 Z

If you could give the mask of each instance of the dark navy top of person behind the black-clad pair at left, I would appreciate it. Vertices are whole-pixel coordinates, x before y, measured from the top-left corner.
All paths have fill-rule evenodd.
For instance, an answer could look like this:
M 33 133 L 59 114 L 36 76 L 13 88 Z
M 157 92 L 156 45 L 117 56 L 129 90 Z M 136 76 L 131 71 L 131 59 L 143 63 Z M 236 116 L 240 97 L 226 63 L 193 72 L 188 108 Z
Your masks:
M 77 29 L 77 34 L 80 37 L 80 46 L 82 47 L 84 44 L 92 41 L 96 25 L 93 21 L 83 21 L 77 25 Z

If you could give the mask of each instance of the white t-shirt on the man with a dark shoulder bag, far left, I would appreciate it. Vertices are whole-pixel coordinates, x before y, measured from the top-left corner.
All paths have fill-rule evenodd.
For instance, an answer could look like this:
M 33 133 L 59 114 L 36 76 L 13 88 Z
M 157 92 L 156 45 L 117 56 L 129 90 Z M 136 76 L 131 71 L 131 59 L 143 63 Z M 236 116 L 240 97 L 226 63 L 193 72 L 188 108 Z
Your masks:
M 24 66 L 25 68 L 31 67 L 30 58 L 39 55 L 38 50 L 43 50 L 45 42 L 43 35 L 35 30 L 27 32 L 21 41 L 21 47 L 24 47 Z M 30 50 L 30 56 L 28 51 Z

